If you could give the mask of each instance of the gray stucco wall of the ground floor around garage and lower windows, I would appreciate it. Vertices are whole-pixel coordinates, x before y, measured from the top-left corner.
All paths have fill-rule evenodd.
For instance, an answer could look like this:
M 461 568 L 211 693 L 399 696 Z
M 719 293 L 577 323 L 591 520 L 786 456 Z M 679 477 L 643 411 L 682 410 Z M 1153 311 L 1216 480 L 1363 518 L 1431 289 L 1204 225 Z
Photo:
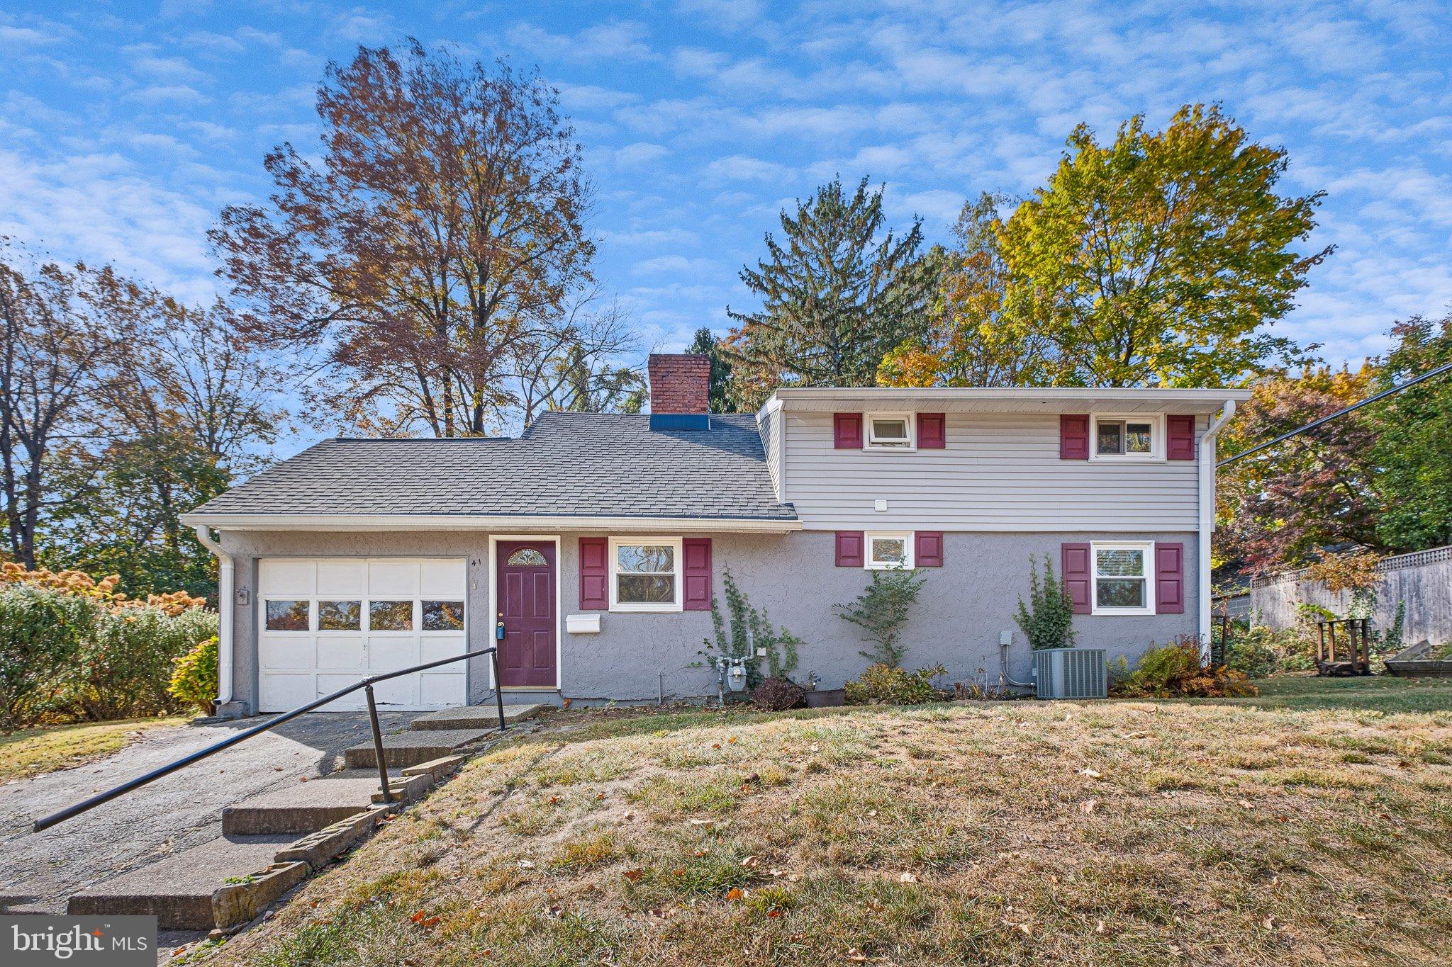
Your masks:
M 562 607 L 579 613 L 578 538 L 598 532 L 560 535 Z M 507 538 L 510 535 L 498 535 Z M 672 535 L 674 536 L 674 535 Z M 682 536 L 697 536 L 684 532 Z M 870 581 L 861 568 L 833 567 L 833 535 L 806 531 L 790 535 L 710 535 L 713 586 L 722 593 L 722 573 L 730 568 L 752 605 L 771 621 L 786 625 L 804 641 L 797 678 L 815 671 L 823 687 L 841 687 L 867 665 L 858 651 L 867 648 L 858 629 L 841 621 L 832 605 L 854 599 Z M 1115 539 L 1104 534 L 948 534 L 941 568 L 925 568 L 926 583 L 913 612 L 906 639 L 909 667 L 942 663 L 948 681 L 996 683 L 999 631 L 1013 632 L 1009 674 L 1028 677 L 1028 645 L 1013 625 L 1018 597 L 1027 593 L 1029 555 L 1048 554 L 1057 570 L 1063 541 Z M 1106 648 L 1109 657 L 1131 660 L 1150 644 L 1163 644 L 1196 631 L 1195 535 L 1182 532 L 1137 534 L 1135 539 L 1183 541 L 1186 600 L 1182 615 L 1090 616 L 1074 619 L 1079 644 Z M 417 534 L 306 534 L 234 532 L 224 547 L 237 561 L 237 587 L 248 590 L 248 605 L 235 609 L 235 696 L 256 707 L 256 577 L 257 558 L 282 557 L 468 557 L 470 647 L 488 644 L 489 535 L 479 532 Z M 601 613 L 601 634 L 562 634 L 560 693 L 579 700 L 653 700 L 658 687 L 666 696 L 701 696 L 716 690 L 714 673 L 690 668 L 698 661 L 703 639 L 711 634 L 709 612 Z M 488 671 L 472 663 L 470 700 L 482 699 Z M 659 678 L 658 678 L 659 674 Z

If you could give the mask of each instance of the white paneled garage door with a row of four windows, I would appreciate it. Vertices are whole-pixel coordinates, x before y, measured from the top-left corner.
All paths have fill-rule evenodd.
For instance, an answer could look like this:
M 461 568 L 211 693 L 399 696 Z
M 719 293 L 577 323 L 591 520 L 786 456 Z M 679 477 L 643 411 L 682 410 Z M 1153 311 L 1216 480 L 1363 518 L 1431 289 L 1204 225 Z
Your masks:
M 463 558 L 263 558 L 258 561 L 260 712 L 286 712 L 359 678 L 462 654 Z M 379 706 L 466 702 L 463 661 L 373 686 Z M 324 706 L 367 707 L 359 689 Z

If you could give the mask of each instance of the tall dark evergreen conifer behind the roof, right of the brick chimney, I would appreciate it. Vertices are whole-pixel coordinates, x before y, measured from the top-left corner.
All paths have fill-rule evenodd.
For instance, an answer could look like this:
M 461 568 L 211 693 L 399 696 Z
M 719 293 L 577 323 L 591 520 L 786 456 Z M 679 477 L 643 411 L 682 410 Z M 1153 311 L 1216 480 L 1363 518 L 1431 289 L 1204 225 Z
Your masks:
M 735 402 L 755 409 L 777 384 L 873 386 L 877 367 L 926 322 L 938 262 L 925 258 L 922 225 L 886 228 L 883 188 L 841 180 L 781 212 L 781 239 L 741 278 L 762 306 L 726 313 Z

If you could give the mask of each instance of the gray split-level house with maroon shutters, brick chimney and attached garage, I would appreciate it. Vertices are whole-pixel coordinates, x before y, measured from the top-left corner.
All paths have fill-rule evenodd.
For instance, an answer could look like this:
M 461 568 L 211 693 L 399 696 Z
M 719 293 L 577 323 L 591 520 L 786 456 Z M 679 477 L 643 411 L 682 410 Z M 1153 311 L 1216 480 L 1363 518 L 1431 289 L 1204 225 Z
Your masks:
M 222 707 L 277 712 L 494 642 L 517 700 L 710 694 L 726 570 L 823 687 L 867 664 L 832 606 L 874 568 L 926 574 L 905 664 L 953 680 L 1027 677 L 1013 615 L 1044 555 L 1080 645 L 1133 658 L 1208 635 L 1214 436 L 1243 390 L 781 389 L 717 415 L 704 357 L 649 370 L 652 415 L 328 439 L 187 515 L 221 560 Z M 431 709 L 494 686 L 472 660 L 378 694 Z

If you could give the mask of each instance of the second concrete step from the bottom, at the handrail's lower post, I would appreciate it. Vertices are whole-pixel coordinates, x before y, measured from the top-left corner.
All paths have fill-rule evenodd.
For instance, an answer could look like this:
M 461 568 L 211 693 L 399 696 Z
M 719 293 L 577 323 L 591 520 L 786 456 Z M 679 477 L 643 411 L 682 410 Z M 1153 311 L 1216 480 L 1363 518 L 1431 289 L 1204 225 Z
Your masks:
M 427 776 L 393 777 L 395 797 L 414 802 L 428 790 Z M 244 799 L 222 810 L 222 834 L 257 837 L 283 832 L 317 832 L 367 809 L 379 796 L 378 771 L 334 773 L 324 779 L 290 783 Z

